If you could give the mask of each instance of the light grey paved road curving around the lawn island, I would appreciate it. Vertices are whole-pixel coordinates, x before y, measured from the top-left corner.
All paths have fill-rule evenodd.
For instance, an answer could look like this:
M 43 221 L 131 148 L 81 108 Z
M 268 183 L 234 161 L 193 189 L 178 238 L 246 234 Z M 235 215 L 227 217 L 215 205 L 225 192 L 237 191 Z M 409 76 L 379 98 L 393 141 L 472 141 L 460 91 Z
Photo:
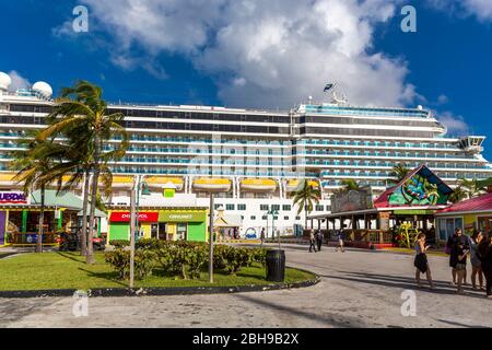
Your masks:
M 91 299 L 89 317 L 71 299 L 0 300 L 0 327 L 492 327 L 492 300 L 456 295 L 447 259 L 430 257 L 437 291 L 417 290 L 413 257 L 286 247 L 288 264 L 321 276 L 308 289 L 159 298 Z M 401 316 L 401 293 L 417 294 L 417 316 Z

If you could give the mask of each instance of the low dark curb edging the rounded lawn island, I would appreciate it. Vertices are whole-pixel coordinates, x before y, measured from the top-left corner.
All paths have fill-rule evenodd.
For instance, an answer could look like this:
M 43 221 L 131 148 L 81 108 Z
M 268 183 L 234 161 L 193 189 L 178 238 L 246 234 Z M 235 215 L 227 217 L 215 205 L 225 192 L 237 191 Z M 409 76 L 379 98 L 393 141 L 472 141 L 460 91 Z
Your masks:
M 309 272 L 303 269 L 300 271 Z M 313 273 L 313 272 L 309 272 Z M 285 289 L 300 289 L 318 284 L 320 276 L 315 275 L 314 279 L 295 283 L 277 284 L 249 284 L 236 287 L 176 287 L 176 288 L 141 288 L 139 290 L 128 288 L 93 289 L 87 291 L 90 298 L 121 298 L 121 296 L 164 296 L 164 295 L 197 295 L 197 294 L 234 294 L 250 292 L 267 292 Z M 30 298 L 70 298 L 78 290 L 60 289 L 44 291 L 0 291 L 0 299 L 30 299 Z

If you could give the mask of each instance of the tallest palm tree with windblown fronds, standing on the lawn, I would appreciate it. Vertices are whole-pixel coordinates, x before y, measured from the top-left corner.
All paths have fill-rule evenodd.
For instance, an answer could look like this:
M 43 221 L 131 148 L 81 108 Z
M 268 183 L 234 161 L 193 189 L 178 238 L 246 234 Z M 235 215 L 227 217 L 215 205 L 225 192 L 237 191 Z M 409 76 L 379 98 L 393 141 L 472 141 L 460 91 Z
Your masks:
M 77 140 L 87 142 L 84 159 L 89 162 L 92 173 L 90 195 L 84 196 L 84 201 L 90 203 L 89 238 L 86 262 L 94 264 L 94 250 L 92 240 L 94 237 L 95 209 L 97 202 L 97 185 L 102 170 L 109 161 L 120 160 L 128 148 L 128 133 L 121 126 L 125 116 L 121 113 L 108 114 L 107 104 L 102 100 L 101 88 L 79 81 L 73 88 L 66 88 L 61 97 L 56 101 L 54 112 L 47 117 L 48 128 L 39 136 L 39 140 L 55 136 L 69 135 Z M 75 136 L 74 130 L 79 136 Z M 114 136 L 120 136 L 120 143 L 109 151 L 104 150 L 104 142 Z M 87 186 L 89 187 L 89 186 Z M 85 190 L 89 191 L 86 187 Z M 86 217 L 84 217 L 86 218 Z M 82 230 L 84 232 L 84 230 Z

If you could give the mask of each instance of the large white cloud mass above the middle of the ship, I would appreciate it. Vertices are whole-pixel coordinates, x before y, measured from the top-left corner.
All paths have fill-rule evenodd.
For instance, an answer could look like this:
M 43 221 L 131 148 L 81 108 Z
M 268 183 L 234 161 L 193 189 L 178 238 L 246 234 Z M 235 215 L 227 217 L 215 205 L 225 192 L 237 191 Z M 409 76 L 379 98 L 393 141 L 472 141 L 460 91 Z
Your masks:
M 289 107 L 323 98 L 338 82 L 350 101 L 401 105 L 419 98 L 405 60 L 373 52 L 374 30 L 400 0 L 84 0 L 113 37 L 113 62 L 165 77 L 161 52 L 211 75 L 227 105 Z M 147 58 L 134 54 L 144 50 Z M 143 67 L 143 62 L 153 62 Z

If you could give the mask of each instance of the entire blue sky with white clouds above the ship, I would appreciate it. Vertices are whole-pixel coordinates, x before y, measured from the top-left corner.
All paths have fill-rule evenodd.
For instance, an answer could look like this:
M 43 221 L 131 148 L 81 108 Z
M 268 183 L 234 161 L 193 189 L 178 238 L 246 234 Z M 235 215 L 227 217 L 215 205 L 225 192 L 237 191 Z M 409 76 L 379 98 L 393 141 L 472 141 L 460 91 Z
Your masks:
M 55 92 L 86 79 L 108 101 L 269 108 L 337 81 L 353 104 L 422 104 L 453 133 L 492 137 L 492 1 L 413 1 L 417 33 L 399 0 L 136 3 L 1 1 L 0 71 Z M 71 31 L 78 4 L 89 33 Z

